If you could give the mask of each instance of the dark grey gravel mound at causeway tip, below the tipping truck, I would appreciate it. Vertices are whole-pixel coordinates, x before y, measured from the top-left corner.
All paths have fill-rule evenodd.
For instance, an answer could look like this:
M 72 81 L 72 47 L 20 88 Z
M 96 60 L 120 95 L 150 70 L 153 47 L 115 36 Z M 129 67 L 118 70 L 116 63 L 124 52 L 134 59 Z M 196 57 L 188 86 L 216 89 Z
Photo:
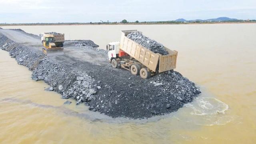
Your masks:
M 149 118 L 168 114 L 200 94 L 195 84 L 178 72 L 163 72 L 142 80 L 126 70 L 116 72 L 115 69 L 112 74 L 116 79 L 109 82 L 113 78 L 107 76 L 108 70 L 102 71 L 97 77 L 101 80 L 101 89 L 88 105 L 112 117 Z

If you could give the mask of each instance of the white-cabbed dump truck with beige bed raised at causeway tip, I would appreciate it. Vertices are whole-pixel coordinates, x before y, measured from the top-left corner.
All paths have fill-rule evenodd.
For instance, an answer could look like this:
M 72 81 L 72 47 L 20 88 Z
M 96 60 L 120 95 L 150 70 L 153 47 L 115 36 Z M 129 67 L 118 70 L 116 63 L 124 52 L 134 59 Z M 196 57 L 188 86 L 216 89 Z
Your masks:
M 121 32 L 120 42 L 110 42 L 106 46 L 108 62 L 113 68 L 130 70 L 133 75 L 140 75 L 143 79 L 176 68 L 178 55 L 176 50 L 170 50 L 164 46 L 169 54 L 154 53 L 127 37 L 128 34 L 139 31 L 123 30 Z M 139 33 L 142 34 L 142 32 Z

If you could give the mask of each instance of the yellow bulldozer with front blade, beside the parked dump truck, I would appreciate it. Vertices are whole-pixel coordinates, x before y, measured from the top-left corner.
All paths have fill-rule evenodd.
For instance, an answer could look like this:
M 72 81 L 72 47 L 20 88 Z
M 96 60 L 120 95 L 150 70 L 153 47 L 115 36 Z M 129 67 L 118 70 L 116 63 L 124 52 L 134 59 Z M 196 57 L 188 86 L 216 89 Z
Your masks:
M 64 54 L 63 48 L 56 46 L 53 34 L 43 34 L 41 36 L 41 40 L 44 46 L 42 51 L 44 54 L 46 54 L 46 56 L 58 56 Z

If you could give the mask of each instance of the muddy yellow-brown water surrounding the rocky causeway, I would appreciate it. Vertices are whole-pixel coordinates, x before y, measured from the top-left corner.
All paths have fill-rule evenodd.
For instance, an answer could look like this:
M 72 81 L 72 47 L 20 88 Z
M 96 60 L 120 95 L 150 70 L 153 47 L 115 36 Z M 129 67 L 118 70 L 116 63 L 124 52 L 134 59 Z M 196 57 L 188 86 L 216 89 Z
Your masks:
M 56 31 L 90 39 L 100 48 L 120 30 L 144 35 L 179 51 L 177 71 L 202 94 L 178 112 L 148 120 L 112 119 L 86 106 L 63 105 L 44 82 L 0 50 L 0 143 L 255 143 L 256 24 L 2 26 Z

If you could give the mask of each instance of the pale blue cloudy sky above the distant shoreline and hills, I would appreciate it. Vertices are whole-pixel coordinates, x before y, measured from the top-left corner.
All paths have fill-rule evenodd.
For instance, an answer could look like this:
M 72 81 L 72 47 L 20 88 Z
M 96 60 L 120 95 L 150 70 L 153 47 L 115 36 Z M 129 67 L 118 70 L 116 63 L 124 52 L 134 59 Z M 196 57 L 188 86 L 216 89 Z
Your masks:
M 256 19 L 256 0 L 0 0 L 0 23 Z

